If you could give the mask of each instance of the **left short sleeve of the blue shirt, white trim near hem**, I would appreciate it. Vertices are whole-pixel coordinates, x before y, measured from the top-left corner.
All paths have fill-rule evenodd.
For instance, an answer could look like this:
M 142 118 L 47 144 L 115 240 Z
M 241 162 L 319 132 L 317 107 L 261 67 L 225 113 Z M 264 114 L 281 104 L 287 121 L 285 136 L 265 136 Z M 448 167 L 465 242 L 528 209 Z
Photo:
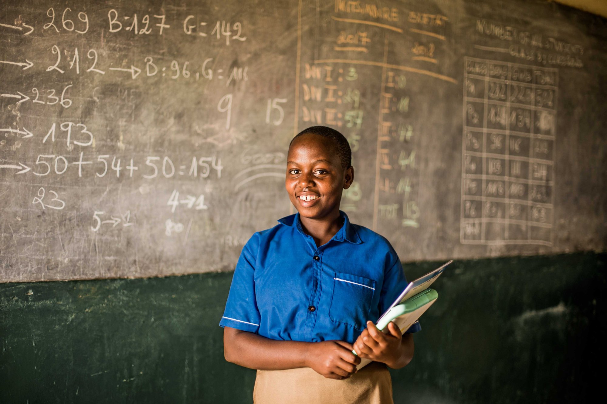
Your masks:
M 236 264 L 226 308 L 219 322 L 222 327 L 228 326 L 249 332 L 259 330 L 260 315 L 253 278 L 258 251 L 259 234 L 256 233 L 246 242 Z

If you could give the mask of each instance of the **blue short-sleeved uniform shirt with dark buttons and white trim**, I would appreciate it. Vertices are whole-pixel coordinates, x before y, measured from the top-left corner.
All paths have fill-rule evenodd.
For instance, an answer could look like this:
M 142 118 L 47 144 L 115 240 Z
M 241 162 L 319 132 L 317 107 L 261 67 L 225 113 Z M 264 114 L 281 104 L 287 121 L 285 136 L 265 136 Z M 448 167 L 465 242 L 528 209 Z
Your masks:
M 320 247 L 299 214 L 256 232 L 240 254 L 219 325 L 273 340 L 353 343 L 407 281 L 388 240 L 340 215 L 343 226 Z M 415 323 L 407 332 L 420 329 Z

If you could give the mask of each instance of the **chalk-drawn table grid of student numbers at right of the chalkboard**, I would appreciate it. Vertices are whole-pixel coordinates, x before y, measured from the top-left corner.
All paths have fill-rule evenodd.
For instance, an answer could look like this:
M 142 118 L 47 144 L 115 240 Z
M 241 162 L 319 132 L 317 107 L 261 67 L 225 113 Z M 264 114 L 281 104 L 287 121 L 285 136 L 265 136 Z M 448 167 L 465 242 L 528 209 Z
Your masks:
M 552 245 L 557 78 L 465 59 L 462 243 Z

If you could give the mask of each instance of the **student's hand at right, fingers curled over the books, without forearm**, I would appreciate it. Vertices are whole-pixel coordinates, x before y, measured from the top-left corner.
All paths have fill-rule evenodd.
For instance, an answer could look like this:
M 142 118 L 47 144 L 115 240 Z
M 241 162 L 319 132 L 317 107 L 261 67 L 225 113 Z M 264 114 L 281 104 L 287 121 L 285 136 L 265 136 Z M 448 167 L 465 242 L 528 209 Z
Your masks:
M 376 360 L 390 366 L 401 358 L 401 340 L 402 332 L 395 323 L 388 323 L 388 334 L 384 334 L 373 322 L 367 322 L 367 328 L 354 342 L 354 352 L 361 358 Z

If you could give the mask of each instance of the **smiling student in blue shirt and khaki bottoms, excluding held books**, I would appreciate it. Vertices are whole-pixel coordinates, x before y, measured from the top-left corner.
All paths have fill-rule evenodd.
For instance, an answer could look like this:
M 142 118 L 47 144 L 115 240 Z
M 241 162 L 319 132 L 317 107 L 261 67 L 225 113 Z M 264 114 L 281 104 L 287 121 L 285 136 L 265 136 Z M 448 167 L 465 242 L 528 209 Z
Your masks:
M 384 334 L 374 325 L 406 286 L 401 261 L 339 210 L 354 180 L 341 133 L 305 129 L 287 160 L 297 214 L 243 247 L 220 321 L 225 358 L 258 369 L 255 403 L 392 403 L 386 366 L 410 362 L 420 329 L 401 334 L 390 323 Z M 356 372 L 361 358 L 375 362 Z

